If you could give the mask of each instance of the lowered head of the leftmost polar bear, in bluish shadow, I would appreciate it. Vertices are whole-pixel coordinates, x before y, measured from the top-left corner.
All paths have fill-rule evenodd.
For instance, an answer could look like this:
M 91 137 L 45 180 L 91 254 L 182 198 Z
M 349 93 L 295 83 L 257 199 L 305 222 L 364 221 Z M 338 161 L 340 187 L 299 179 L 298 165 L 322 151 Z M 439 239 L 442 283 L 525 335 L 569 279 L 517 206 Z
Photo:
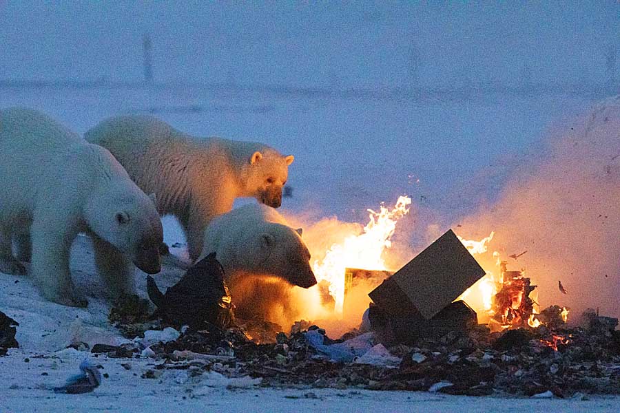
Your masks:
M 85 206 L 90 230 L 130 257 L 147 274 L 161 271 L 159 246 L 163 242 L 155 195 L 132 185 L 110 185 L 97 191 Z

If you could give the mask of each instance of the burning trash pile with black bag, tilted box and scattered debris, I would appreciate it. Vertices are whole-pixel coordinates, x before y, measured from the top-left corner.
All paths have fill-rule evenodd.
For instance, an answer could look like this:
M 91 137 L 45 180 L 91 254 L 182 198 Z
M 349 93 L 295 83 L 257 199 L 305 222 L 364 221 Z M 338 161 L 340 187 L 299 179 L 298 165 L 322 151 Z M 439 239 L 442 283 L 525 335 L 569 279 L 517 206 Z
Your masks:
M 284 330 L 268 321 L 235 319 L 223 270 L 216 257 L 207 257 L 165 294 L 150 283 L 154 316 L 143 317 L 143 307 L 135 304 L 129 308 L 138 308 L 139 317 L 123 308 L 112 311 L 127 334 L 140 327 L 162 331 L 147 330 L 144 338 L 92 352 L 155 359 L 144 379 L 161 370 L 187 370 L 197 383 L 218 374 L 234 383 L 274 387 L 620 393 L 618 320 L 588 310 L 579 326 L 568 327 L 567 308 L 539 311 L 535 286 L 523 271 L 499 261 L 494 277 L 473 257 L 492 236 L 481 246 L 448 231 L 395 273 L 343 267 L 342 286 L 332 289 L 342 294 L 332 302 L 335 313 L 347 313 L 347 290 L 360 282 L 357 277 L 372 279 L 373 289 L 362 324 L 340 339 L 308 321 Z M 210 287 L 192 288 L 197 280 Z M 466 301 L 475 302 L 481 291 L 482 304 L 473 310 Z M 188 314 L 179 305 L 184 302 L 198 310 Z

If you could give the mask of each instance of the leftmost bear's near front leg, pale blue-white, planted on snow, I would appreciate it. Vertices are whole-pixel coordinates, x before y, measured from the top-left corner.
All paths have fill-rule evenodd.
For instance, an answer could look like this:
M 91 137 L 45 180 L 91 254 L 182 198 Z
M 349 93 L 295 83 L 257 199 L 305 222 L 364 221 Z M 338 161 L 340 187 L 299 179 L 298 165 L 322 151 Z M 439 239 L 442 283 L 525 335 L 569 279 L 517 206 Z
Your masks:
M 85 307 L 88 301 L 76 293 L 69 271 L 75 227 L 49 215 L 47 219 L 35 218 L 31 227 L 32 275 L 46 299 L 64 306 Z

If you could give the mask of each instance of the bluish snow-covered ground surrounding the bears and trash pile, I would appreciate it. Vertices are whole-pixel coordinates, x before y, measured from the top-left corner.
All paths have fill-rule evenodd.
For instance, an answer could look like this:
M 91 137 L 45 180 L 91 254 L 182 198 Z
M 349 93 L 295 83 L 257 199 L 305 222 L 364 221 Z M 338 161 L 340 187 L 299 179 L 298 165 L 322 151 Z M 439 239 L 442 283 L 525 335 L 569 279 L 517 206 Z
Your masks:
M 41 109 L 79 132 L 107 116 L 154 112 L 198 136 L 267 142 L 296 156 L 289 178 L 293 198 L 285 199 L 284 205 L 292 213 L 314 218 L 338 215 L 342 220 L 364 223 L 366 208 L 375 208 L 382 201 L 392 203 L 397 195 L 406 193 L 413 197 L 416 209 L 415 218 L 407 223 L 420 228 L 420 240 L 426 242 L 424 225 L 455 222 L 492 202 L 513 168 L 535 153 L 549 125 L 588 109 L 592 102 L 568 96 L 422 102 L 247 95 L 225 90 L 3 89 L 0 107 L 14 105 Z M 179 107 L 198 109 L 175 109 Z M 183 242 L 174 220 L 166 218 L 164 222 L 165 240 L 169 244 Z M 412 233 L 415 235 L 409 231 L 408 236 Z M 72 254 L 76 284 L 87 287 L 90 295 L 85 309 L 41 299 L 28 277 L 0 275 L 0 310 L 19 321 L 17 340 L 21 346 L 0 357 L 0 412 L 620 409 L 619 398 L 602 396 L 584 401 L 333 389 L 227 390 L 221 383 L 211 388 L 200 381 L 176 380 L 170 371 L 160 379 L 142 379 L 152 360 L 134 359 L 132 370 L 125 370 L 120 366 L 124 361 L 103 356 L 93 359 L 110 375 L 100 388 L 82 396 L 54 394 L 49 388 L 62 384 L 78 371 L 81 359 L 90 356 L 63 350 L 73 336 L 109 343 L 120 338 L 107 322 L 109 306 L 97 298 L 102 286 L 89 248 L 85 237 L 79 237 Z M 174 266 L 164 266 L 158 284 L 161 288 L 174 284 L 182 273 Z M 137 277 L 143 296 L 144 278 L 143 274 Z

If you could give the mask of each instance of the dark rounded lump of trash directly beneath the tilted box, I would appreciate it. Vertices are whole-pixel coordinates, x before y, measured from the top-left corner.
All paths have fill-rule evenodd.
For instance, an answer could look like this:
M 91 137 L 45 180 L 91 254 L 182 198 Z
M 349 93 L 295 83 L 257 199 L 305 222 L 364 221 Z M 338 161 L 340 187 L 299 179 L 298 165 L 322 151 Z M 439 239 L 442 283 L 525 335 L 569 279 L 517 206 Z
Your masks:
M 420 337 L 439 338 L 449 332 L 465 333 L 478 324 L 476 312 L 464 301 L 455 301 L 430 320 L 420 313 L 394 316 L 371 304 L 368 314 L 371 328 L 382 343 L 413 343 Z

